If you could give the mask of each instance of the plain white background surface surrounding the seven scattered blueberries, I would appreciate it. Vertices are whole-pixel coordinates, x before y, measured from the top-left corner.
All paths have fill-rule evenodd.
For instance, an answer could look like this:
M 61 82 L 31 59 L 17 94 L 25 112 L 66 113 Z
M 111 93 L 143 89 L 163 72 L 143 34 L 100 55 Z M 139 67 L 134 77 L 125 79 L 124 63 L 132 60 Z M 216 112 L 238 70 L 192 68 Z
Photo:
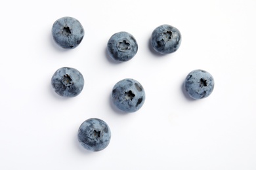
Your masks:
M 53 41 L 55 20 L 72 16 L 85 29 L 77 48 Z M 0 7 L 0 169 L 256 169 L 256 1 L 3 1 Z M 150 49 L 161 24 L 182 34 L 179 50 Z M 115 63 L 106 44 L 131 33 L 137 55 Z M 51 88 L 60 67 L 85 78 L 83 91 L 63 99 Z M 193 101 L 186 75 L 204 69 L 215 89 Z M 123 78 L 138 80 L 143 107 L 119 112 L 110 100 Z M 108 147 L 89 152 L 77 142 L 88 118 L 112 131 Z

